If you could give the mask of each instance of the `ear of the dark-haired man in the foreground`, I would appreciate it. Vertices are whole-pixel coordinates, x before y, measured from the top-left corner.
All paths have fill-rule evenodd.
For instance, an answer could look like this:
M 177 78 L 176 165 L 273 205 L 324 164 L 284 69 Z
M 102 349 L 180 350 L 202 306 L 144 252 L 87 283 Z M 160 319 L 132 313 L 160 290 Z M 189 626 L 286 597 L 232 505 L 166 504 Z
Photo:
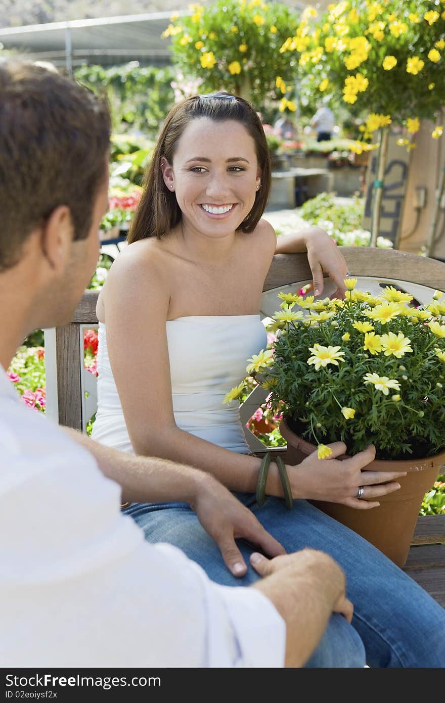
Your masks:
M 41 228 L 41 251 L 54 273 L 65 271 L 70 261 L 72 219 L 67 205 L 58 205 Z

